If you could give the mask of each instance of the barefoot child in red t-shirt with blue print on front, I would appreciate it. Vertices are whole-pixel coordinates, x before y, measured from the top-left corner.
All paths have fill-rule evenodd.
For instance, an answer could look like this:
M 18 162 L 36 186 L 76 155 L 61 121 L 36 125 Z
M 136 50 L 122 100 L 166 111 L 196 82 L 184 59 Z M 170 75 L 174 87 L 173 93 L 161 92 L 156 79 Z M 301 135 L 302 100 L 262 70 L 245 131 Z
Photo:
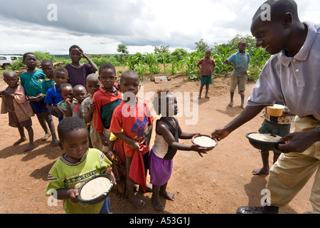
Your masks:
M 134 207 L 141 209 L 145 202 L 134 195 L 134 182 L 139 184 L 144 192 L 146 191 L 149 142 L 154 118 L 148 105 L 136 97 L 139 90 L 139 76 L 136 72 L 122 73 L 120 89 L 124 93 L 124 98 L 122 103 L 114 109 L 109 130 L 124 142 L 128 199 Z

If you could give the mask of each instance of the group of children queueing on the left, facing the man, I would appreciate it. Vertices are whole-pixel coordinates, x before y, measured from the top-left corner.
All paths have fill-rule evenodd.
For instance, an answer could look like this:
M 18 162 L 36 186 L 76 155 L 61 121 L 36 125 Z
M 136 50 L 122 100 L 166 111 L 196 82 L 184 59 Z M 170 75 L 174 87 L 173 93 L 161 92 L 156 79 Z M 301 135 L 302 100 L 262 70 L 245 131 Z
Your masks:
M 21 85 L 14 71 L 4 73 L 8 86 L 0 91 L 1 113 L 9 113 L 9 125 L 18 128 L 21 138 L 14 145 L 26 140 L 23 131 L 26 128 L 29 145 L 25 151 L 35 147 L 31 117 L 36 115 L 45 131 L 42 140 L 51 136 L 53 145 L 63 150 L 48 173 L 46 195 L 57 192 L 57 199 L 65 200 L 67 213 L 110 212 L 108 198 L 94 205 L 77 199 L 83 182 L 105 172 L 114 177 L 116 192 L 126 196 L 134 207 L 139 209 L 146 204 L 135 194 L 139 185 L 143 192 L 153 192 L 154 207 L 163 210 L 159 195 L 174 200 L 174 195 L 166 192 L 166 185 L 176 151 L 206 153 L 206 148 L 198 145 L 178 143 L 178 138 L 190 139 L 196 134 L 181 131 L 174 117 L 177 107 L 173 93 L 162 91 L 164 97 L 154 99 L 166 99 L 168 104 L 161 107 L 159 102 L 162 118 L 156 123 L 156 142 L 149 158 L 154 117 L 149 106 L 137 97 L 138 74 L 124 71 L 118 85 L 111 63 L 102 63 L 98 69 L 79 46 L 71 46 L 69 56 L 72 63 L 67 66 L 54 68 L 51 61 L 44 60 L 41 70 L 36 68 L 36 56 L 25 53 L 23 63 L 27 71 L 21 74 Z M 90 64 L 80 64 L 81 58 Z M 58 118 L 59 139 L 53 118 Z M 146 183 L 148 170 L 151 185 Z

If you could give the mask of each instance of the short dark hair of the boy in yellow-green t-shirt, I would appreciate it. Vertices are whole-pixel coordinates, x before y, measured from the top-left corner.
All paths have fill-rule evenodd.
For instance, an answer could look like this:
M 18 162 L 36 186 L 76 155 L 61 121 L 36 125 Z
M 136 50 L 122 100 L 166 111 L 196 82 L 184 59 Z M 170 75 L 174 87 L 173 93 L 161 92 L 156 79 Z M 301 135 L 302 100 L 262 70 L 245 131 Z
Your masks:
M 68 133 L 73 130 L 87 129 L 85 121 L 78 117 L 68 117 L 64 118 L 58 124 L 58 136 L 60 142 L 63 142 L 67 137 Z

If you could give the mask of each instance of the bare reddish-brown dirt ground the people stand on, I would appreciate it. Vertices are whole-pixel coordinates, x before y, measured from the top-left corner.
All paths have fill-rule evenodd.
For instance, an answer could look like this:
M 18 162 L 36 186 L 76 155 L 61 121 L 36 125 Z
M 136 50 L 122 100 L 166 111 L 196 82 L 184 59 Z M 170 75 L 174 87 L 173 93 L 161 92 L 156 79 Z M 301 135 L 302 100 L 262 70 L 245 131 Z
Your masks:
M 233 120 L 242 111 L 238 94 L 235 94 L 234 107 L 227 106 L 230 99 L 228 92 L 230 77 L 215 78 L 213 82 L 209 91 L 210 98 L 202 98 L 198 102 L 196 125 L 186 124 L 186 120 L 195 118 L 196 113 L 186 117 L 190 109 L 183 107 L 186 108 L 185 111 L 180 107 L 183 116 L 178 117 L 178 120 L 183 131 L 210 134 L 215 128 Z M 247 83 L 246 98 L 254 85 L 252 82 Z M 4 86 L 4 81 L 1 79 L 0 89 Z M 199 82 L 178 77 L 172 78 L 168 83 L 146 82 L 143 84 L 143 91 L 146 95 L 147 92 L 155 91 L 157 88 L 169 87 L 174 93 L 190 92 L 189 100 L 191 100 L 192 93 L 198 92 L 199 86 Z M 196 105 L 195 100 L 192 103 Z M 7 114 L 0 115 L 0 213 L 64 214 L 62 201 L 58 202 L 58 206 L 49 206 L 48 198 L 45 196 L 48 171 L 63 151 L 53 147 L 50 138 L 42 142 L 43 130 L 35 117 L 32 120 L 36 147 L 31 152 L 23 152 L 28 141 L 13 146 L 18 140 L 18 130 L 9 127 Z M 150 192 L 137 193 L 137 196 L 146 202 L 144 209 L 135 209 L 127 199 L 111 194 L 111 212 L 113 214 L 235 214 L 238 207 L 259 206 L 262 198 L 260 192 L 265 188 L 268 176 L 252 175 L 253 169 L 262 167 L 262 160 L 260 152 L 250 145 L 245 135 L 257 131 L 262 121 L 263 119 L 257 116 L 250 123 L 242 125 L 228 138 L 218 142 L 217 147 L 204 157 L 200 157 L 197 152 L 178 151 L 174 157 L 174 170 L 168 184 L 168 191 L 174 193 L 176 200 L 171 202 L 161 199 L 165 205 L 163 212 L 154 209 Z M 58 119 L 55 118 L 55 126 L 57 125 Z M 151 145 L 153 142 L 154 134 Z M 181 142 L 191 144 L 191 140 L 181 140 Z M 270 153 L 270 166 L 271 160 Z M 279 210 L 279 213 L 299 214 L 311 209 L 309 195 L 312 182 L 313 178 L 292 202 Z

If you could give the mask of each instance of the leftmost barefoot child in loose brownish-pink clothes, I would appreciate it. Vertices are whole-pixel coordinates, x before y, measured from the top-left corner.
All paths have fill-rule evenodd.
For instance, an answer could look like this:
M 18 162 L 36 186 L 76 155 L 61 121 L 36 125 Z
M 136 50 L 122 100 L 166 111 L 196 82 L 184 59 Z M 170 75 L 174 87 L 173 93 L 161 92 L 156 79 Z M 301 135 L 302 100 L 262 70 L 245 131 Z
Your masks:
M 26 141 L 23 128 L 28 130 L 29 145 L 24 151 L 29 151 L 35 146 L 33 142 L 33 129 L 31 127 L 31 116 L 34 115 L 33 110 L 26 98 L 23 87 L 18 85 L 16 73 L 14 71 L 4 72 L 4 81 L 8 86 L 4 90 L 0 90 L 0 95 L 3 95 L 1 114 L 9 113 L 9 125 L 18 128 L 20 140 L 14 142 L 14 145 Z

